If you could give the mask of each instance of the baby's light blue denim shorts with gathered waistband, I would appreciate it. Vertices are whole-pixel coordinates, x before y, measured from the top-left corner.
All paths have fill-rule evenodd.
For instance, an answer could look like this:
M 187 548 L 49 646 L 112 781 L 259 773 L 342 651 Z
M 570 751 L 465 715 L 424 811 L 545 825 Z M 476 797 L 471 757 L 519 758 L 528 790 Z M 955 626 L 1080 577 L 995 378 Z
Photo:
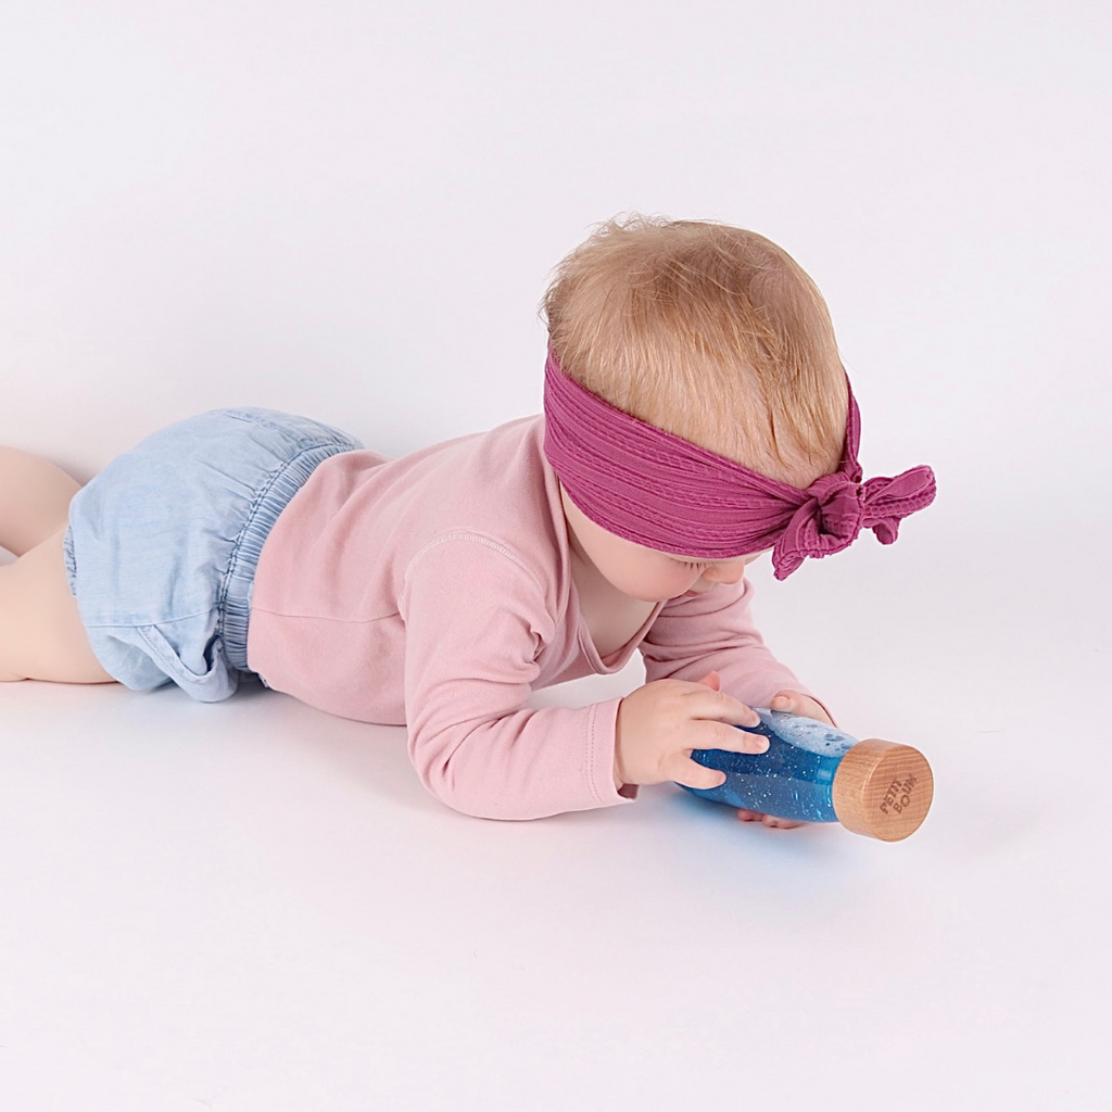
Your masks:
M 247 667 L 251 584 L 278 515 L 324 459 L 361 445 L 267 409 L 202 414 L 115 459 L 70 504 L 70 590 L 121 684 L 215 703 Z

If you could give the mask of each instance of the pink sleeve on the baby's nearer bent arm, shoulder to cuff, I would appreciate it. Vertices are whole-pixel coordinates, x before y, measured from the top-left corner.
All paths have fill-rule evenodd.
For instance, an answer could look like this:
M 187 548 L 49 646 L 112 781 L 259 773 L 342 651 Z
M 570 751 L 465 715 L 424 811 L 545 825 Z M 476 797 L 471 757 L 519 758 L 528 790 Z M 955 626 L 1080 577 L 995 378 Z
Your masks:
M 425 786 L 457 811 L 538 818 L 628 802 L 614 786 L 619 699 L 524 705 L 555 635 L 544 598 L 510 549 L 476 534 L 438 538 L 407 568 L 409 755 Z

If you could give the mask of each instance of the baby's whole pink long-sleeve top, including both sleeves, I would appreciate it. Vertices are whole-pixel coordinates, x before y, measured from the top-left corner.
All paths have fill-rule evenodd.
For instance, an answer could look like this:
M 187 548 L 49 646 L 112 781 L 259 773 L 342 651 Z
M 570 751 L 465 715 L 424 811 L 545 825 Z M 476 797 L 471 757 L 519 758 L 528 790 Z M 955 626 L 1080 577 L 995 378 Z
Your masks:
M 268 686 L 360 722 L 407 725 L 449 806 L 534 818 L 627 803 L 614 785 L 620 699 L 526 706 L 539 687 L 613 673 L 698 679 L 767 705 L 795 676 L 749 615 L 747 580 L 658 604 L 600 657 L 579 612 L 544 418 L 388 459 L 322 463 L 264 546 L 248 632 Z

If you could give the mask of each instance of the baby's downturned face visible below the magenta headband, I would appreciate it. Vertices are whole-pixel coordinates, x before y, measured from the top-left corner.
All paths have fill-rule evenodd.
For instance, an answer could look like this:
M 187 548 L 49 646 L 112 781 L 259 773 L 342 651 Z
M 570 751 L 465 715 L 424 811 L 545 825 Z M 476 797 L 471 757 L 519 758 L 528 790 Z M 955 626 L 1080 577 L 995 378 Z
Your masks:
M 657 552 L 607 533 L 562 492 L 564 517 L 573 544 L 610 586 L 631 598 L 663 603 L 682 595 L 702 595 L 719 584 L 737 583 L 761 553 L 725 560 L 697 560 Z

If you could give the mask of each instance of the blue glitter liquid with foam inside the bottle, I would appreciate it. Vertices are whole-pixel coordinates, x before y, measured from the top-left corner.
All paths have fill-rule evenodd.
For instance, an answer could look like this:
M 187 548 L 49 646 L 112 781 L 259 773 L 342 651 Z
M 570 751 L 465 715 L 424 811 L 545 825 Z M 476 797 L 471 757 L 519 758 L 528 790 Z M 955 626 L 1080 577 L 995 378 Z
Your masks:
M 781 818 L 836 823 L 831 800 L 834 774 L 857 739 L 814 718 L 763 707 L 754 709 L 761 715 L 761 725 L 737 728 L 764 734 L 768 738 L 767 751 L 695 749 L 692 759 L 707 768 L 721 770 L 726 782 L 719 787 L 686 791 L 716 803 Z

